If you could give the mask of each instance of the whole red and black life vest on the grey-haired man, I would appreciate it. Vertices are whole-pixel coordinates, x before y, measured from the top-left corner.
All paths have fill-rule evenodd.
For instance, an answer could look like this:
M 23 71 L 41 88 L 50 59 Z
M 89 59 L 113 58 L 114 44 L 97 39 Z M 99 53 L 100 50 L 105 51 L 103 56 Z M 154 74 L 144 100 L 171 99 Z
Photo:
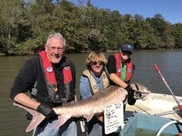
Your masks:
M 53 103 L 65 103 L 74 100 L 74 83 L 72 78 L 71 67 L 69 65 L 63 67 L 64 88 L 62 88 L 63 90 L 60 90 L 61 92 L 58 92 L 58 86 L 53 66 L 47 58 L 46 52 L 39 52 L 39 56 L 49 94 L 47 101 Z M 60 97 L 60 93 L 63 94 L 63 97 Z M 66 98 L 64 98 L 64 96 Z

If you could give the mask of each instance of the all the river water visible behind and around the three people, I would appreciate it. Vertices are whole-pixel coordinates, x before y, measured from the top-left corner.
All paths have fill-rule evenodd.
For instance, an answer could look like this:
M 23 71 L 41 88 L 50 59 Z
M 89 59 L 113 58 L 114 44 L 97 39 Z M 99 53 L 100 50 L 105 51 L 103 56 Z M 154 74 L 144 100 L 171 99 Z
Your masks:
M 113 53 L 105 53 L 108 57 Z M 79 95 L 79 77 L 86 68 L 87 53 L 68 54 L 77 69 L 77 93 Z M 25 61 L 33 56 L 0 57 L 0 136 L 30 136 L 32 132 L 25 133 L 29 123 L 24 117 L 25 111 L 14 107 L 9 98 L 13 80 Z M 154 69 L 157 64 L 161 73 L 175 95 L 181 96 L 182 88 L 182 50 L 165 51 L 135 51 L 132 55 L 135 63 L 134 83 L 140 83 L 155 93 L 170 94 L 161 77 Z

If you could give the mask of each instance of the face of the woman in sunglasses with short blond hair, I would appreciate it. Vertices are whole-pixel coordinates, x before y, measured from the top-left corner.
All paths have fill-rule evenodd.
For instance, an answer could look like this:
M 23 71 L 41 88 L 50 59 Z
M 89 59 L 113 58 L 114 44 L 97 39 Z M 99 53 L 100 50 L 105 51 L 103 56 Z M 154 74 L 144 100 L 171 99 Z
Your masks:
M 93 61 L 90 62 L 92 72 L 97 76 L 99 76 L 103 70 L 104 63 L 102 61 Z

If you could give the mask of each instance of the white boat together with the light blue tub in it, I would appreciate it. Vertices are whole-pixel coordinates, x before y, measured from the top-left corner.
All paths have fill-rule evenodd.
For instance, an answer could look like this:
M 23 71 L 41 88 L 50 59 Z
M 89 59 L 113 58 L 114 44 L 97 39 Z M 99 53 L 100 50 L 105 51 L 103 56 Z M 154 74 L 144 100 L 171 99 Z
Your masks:
M 176 96 L 182 104 L 182 97 Z M 135 105 L 126 105 L 120 136 L 182 136 L 182 111 L 172 95 L 150 93 Z

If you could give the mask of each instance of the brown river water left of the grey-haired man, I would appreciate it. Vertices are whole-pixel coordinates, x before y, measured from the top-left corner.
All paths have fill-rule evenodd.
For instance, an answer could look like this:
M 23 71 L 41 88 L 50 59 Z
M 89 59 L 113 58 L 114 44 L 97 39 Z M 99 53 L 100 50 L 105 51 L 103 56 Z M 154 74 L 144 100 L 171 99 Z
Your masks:
M 24 111 L 12 106 L 9 90 L 20 66 L 29 57 L 0 57 L 0 136 L 30 136 Z

